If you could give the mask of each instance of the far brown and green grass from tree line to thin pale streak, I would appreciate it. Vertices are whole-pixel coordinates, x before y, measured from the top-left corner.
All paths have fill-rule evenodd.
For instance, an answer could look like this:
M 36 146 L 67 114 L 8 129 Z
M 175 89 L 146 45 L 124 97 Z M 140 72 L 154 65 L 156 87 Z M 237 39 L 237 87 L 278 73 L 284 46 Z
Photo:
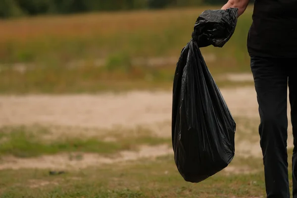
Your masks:
M 63 65 L 73 59 L 112 60 L 118 54 L 128 57 L 176 56 L 189 42 L 198 15 L 204 6 L 167 9 L 41 16 L 2 20 L 0 62 L 48 61 Z M 252 7 L 241 16 L 232 39 L 223 49 L 209 47 L 205 52 L 242 61 L 247 57 L 246 37 Z M 16 28 L 19 27 L 19 28 Z M 234 57 L 236 56 L 236 57 Z

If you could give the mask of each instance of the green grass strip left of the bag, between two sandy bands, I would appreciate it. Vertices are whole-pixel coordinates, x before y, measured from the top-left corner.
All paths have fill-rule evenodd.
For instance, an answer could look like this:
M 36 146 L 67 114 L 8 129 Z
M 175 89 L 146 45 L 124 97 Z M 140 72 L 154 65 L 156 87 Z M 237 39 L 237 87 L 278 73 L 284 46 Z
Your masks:
M 144 129 L 137 129 L 137 131 L 123 130 L 121 133 L 115 131 L 106 133 L 114 141 L 105 141 L 104 137 L 106 135 L 88 138 L 82 136 L 72 137 L 71 133 L 68 136 L 58 136 L 53 140 L 46 140 L 44 137 L 55 136 L 55 134 L 50 134 L 49 129 L 30 127 L 2 128 L 0 129 L 0 154 L 14 155 L 16 157 L 32 157 L 60 152 L 114 154 L 122 150 L 137 150 L 142 145 L 153 146 L 171 143 L 171 139 L 153 137 L 148 130 Z

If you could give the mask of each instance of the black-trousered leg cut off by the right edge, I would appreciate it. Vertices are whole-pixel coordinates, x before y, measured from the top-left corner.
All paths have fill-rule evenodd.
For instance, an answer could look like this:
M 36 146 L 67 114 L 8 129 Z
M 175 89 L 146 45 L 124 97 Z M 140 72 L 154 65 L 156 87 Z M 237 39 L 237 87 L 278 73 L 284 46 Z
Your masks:
M 294 60 L 296 62 L 296 59 Z M 291 63 L 292 64 L 292 63 Z M 291 103 L 291 122 L 293 126 L 293 198 L 297 198 L 297 67 L 292 65 L 289 70 L 289 99 Z

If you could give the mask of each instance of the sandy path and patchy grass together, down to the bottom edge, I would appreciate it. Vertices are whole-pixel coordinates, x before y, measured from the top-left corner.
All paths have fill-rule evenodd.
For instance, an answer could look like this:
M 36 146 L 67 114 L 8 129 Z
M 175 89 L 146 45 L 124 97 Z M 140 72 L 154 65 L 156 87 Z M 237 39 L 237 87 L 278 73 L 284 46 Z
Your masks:
M 170 92 L 0 96 L 0 198 L 264 198 L 254 88 L 221 91 L 236 155 L 199 184 L 174 163 Z

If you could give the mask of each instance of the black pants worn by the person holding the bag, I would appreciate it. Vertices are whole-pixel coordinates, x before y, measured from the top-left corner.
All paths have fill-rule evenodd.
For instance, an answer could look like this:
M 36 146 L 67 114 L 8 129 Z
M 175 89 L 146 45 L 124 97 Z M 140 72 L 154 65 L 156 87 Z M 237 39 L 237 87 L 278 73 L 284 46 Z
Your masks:
M 288 180 L 287 90 L 293 125 L 293 197 L 297 198 L 297 58 L 251 57 L 260 114 L 267 198 L 290 198 Z

